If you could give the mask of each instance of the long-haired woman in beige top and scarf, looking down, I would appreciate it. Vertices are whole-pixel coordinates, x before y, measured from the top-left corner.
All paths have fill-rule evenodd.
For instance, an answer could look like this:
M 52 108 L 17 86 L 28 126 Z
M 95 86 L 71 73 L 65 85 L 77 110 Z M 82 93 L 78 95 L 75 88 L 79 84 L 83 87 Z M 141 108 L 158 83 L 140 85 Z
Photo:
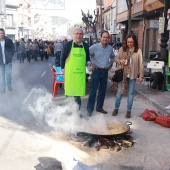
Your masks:
M 117 68 L 123 68 L 124 72 L 123 80 L 118 83 L 115 109 L 112 116 L 118 114 L 122 96 L 123 94 L 127 94 L 127 112 L 125 117 L 130 118 L 136 80 L 138 79 L 139 82 L 142 82 L 144 75 L 142 51 L 138 47 L 138 42 L 134 34 L 127 36 L 125 44 L 119 49 L 115 62 L 117 63 Z

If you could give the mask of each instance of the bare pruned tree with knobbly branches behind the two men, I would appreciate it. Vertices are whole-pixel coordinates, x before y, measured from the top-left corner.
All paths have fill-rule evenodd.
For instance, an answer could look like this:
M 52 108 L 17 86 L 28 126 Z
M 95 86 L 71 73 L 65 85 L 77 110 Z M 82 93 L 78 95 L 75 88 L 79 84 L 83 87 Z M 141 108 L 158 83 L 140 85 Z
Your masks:
M 96 39 L 96 42 L 98 42 L 98 39 L 97 39 L 97 32 L 96 32 L 96 26 L 98 24 L 98 14 L 99 12 L 95 11 L 94 10 L 94 18 L 92 15 L 89 14 L 89 11 L 87 14 L 85 14 L 82 10 L 82 21 L 84 22 L 84 24 L 86 25 L 86 29 L 87 29 L 87 33 L 94 33 L 95 34 L 95 39 Z M 91 35 L 90 35 L 90 45 L 92 43 L 92 40 L 91 40 Z

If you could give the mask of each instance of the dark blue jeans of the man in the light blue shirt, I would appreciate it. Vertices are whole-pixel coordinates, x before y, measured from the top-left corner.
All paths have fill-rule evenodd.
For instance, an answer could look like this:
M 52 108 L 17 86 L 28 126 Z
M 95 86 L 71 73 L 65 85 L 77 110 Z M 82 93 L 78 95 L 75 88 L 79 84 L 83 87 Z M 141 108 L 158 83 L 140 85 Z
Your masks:
M 108 71 L 107 70 L 94 70 L 91 75 L 91 84 L 90 84 L 90 94 L 87 102 L 87 111 L 93 112 L 96 93 L 98 90 L 97 96 L 97 105 L 96 110 L 102 109 L 106 94 L 108 80 Z

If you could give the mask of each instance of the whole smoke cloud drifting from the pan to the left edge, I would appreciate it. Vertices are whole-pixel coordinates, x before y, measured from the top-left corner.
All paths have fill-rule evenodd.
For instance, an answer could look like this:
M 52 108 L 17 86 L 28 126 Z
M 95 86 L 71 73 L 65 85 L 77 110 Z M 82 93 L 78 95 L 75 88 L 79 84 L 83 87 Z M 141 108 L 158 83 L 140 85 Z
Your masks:
M 45 88 L 30 90 L 21 82 L 17 82 L 17 88 L 2 97 L 0 98 L 0 115 L 29 130 L 39 132 L 50 130 L 58 135 L 62 135 L 63 132 L 91 133 L 93 130 L 101 133 L 107 132 L 107 121 L 109 121 L 107 116 L 98 113 L 92 117 L 87 116 L 85 108 L 88 96 L 82 97 L 82 107 L 79 110 L 74 98 L 57 96 L 53 100 L 52 94 Z

